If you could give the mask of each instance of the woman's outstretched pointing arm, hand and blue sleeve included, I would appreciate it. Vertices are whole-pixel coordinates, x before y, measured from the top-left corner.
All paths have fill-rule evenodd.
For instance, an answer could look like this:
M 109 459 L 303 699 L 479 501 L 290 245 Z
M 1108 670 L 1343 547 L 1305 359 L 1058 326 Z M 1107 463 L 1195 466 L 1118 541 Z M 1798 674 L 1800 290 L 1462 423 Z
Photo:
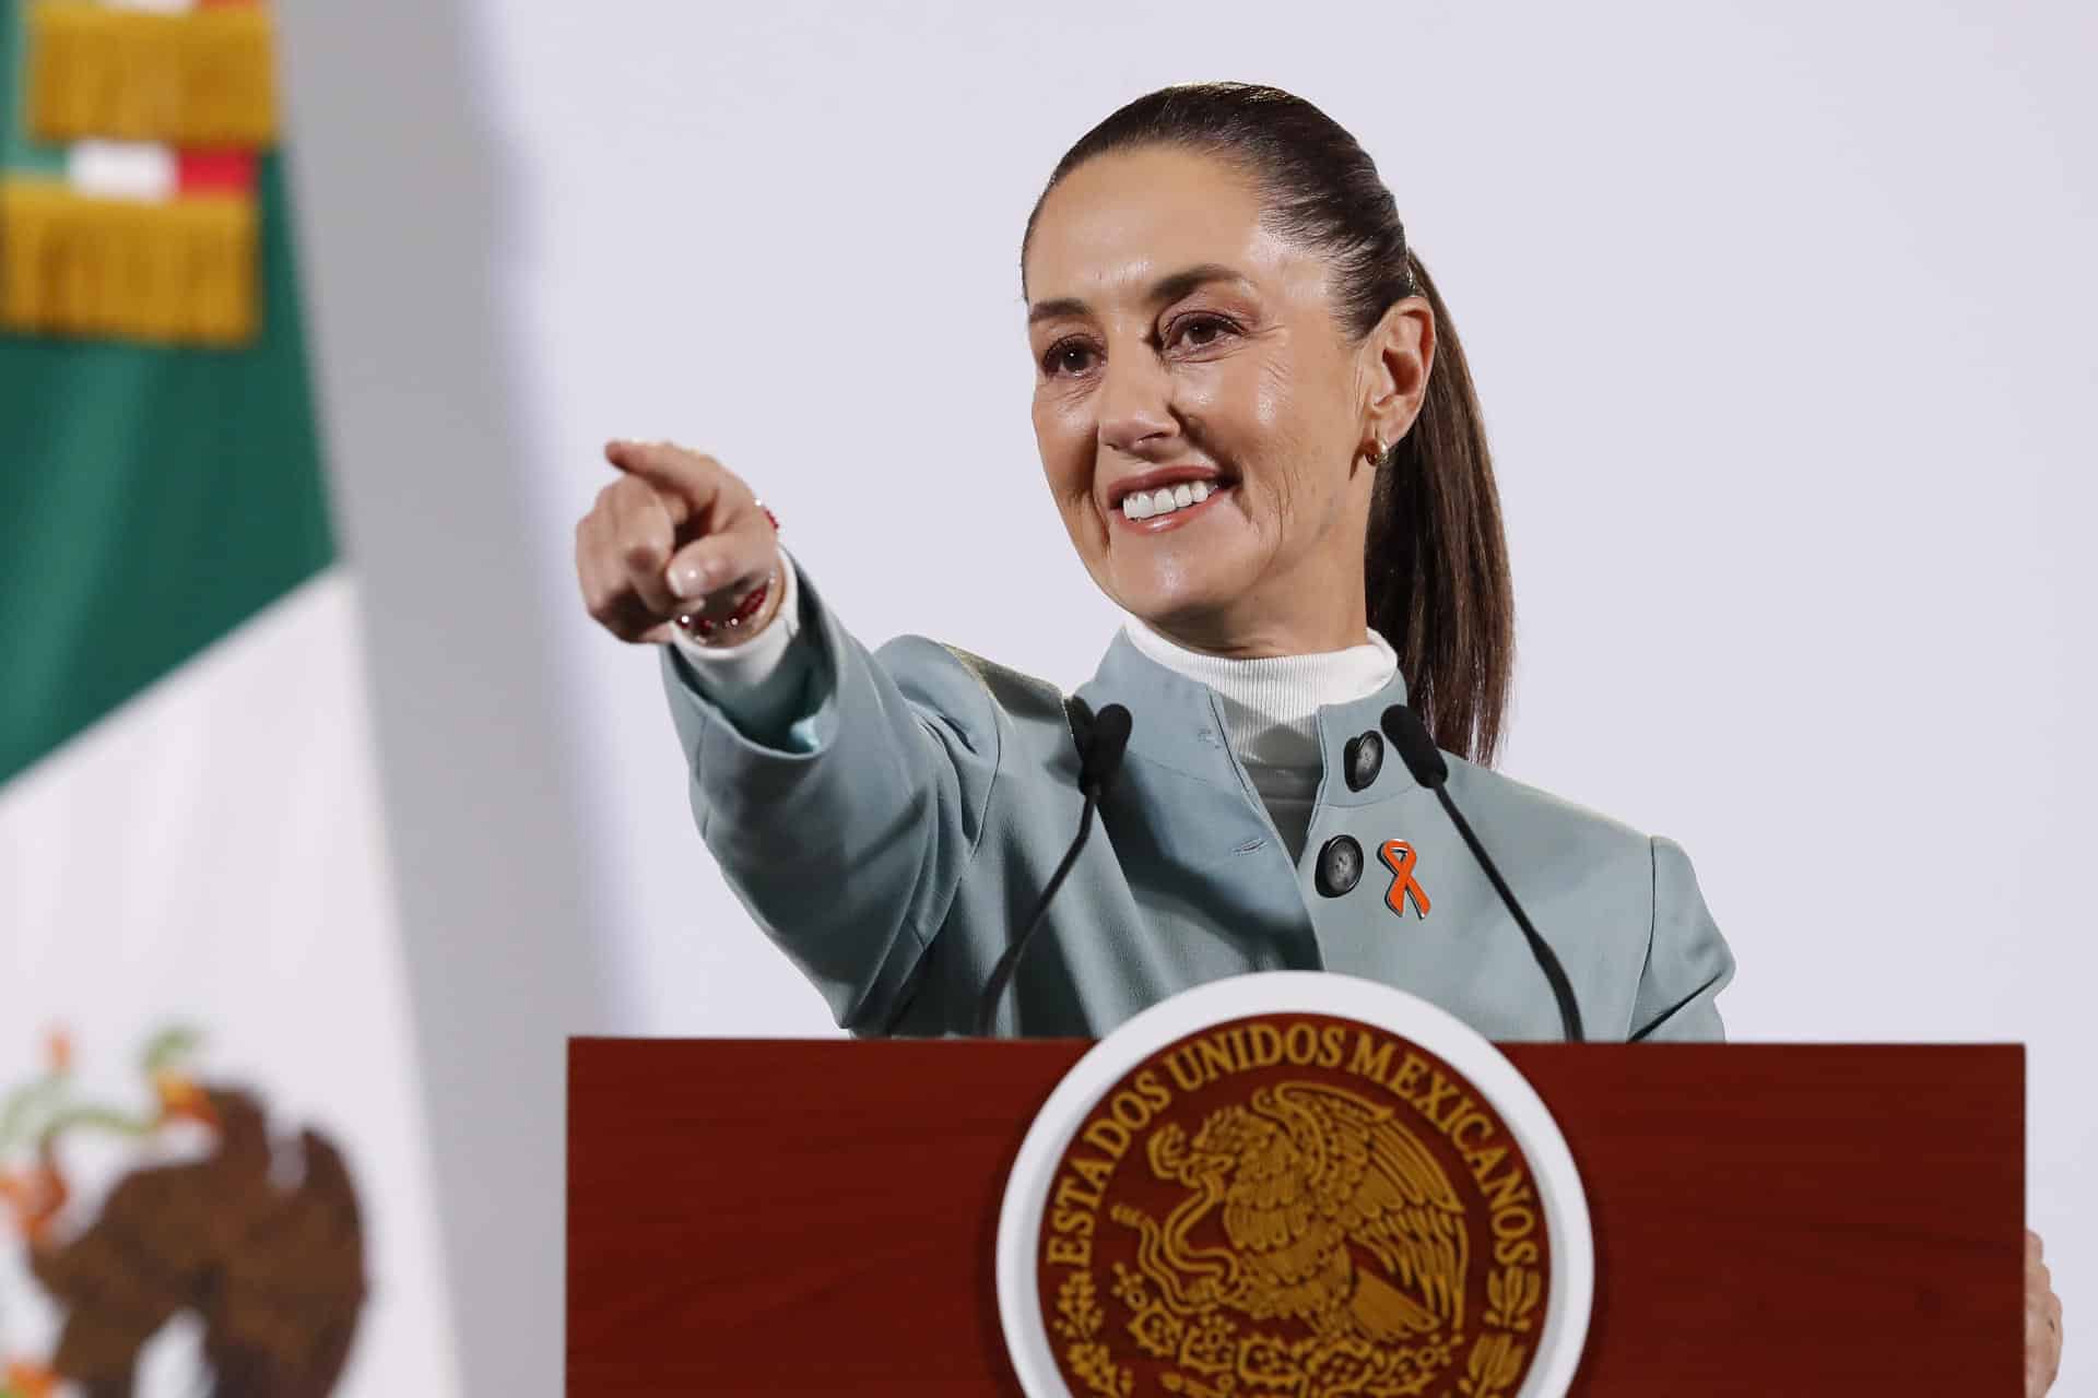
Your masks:
M 606 459 L 621 478 L 577 526 L 585 606 L 663 648 L 692 813 L 730 887 L 839 1025 L 881 1031 L 976 853 L 997 706 L 929 641 L 877 658 L 852 639 L 720 461 L 665 442 Z

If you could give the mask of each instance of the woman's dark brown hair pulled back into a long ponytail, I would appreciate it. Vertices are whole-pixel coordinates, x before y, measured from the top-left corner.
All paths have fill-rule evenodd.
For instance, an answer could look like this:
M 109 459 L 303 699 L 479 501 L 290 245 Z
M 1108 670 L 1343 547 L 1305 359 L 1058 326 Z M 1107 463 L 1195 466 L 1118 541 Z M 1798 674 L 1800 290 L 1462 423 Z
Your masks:
M 1408 702 L 1437 746 L 1492 763 L 1515 673 L 1515 589 L 1494 461 L 1456 325 L 1406 245 L 1376 163 L 1332 117 L 1280 88 L 1160 88 L 1089 130 L 1057 161 L 1028 214 L 1022 264 L 1043 201 L 1064 176 L 1095 155 L 1141 147 L 1177 147 L 1246 170 L 1267 203 L 1267 226 L 1334 268 L 1334 308 L 1357 340 L 1406 296 L 1427 298 L 1435 312 L 1427 398 L 1378 467 L 1364 589 L 1370 625 L 1399 652 Z

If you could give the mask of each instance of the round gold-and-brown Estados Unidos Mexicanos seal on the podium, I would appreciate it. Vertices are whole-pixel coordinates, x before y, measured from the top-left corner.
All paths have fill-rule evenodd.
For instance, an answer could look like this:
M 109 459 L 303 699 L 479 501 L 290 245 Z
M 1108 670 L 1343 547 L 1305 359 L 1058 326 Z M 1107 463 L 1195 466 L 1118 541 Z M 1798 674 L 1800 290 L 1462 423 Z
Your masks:
M 1422 1042 L 1240 1014 L 1150 1044 L 1087 1096 L 1047 1167 L 1015 1167 L 1041 1197 L 1028 1392 L 1059 1392 L 1051 1367 L 1101 1398 L 1529 1398 L 1571 1377 L 1553 1318 L 1565 1331 L 1578 1304 L 1584 1327 L 1590 1272 L 1571 1266 L 1578 1178 L 1557 1207 L 1563 1142 L 1561 1178 L 1540 1180 L 1536 1132 Z

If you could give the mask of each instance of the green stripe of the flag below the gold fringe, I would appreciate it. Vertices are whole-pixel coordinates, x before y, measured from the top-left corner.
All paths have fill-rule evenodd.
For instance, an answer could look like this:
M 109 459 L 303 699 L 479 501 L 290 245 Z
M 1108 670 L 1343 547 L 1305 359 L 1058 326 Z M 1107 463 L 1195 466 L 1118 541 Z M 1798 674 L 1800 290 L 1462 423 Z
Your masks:
M 0 782 L 334 560 L 279 159 L 256 174 L 256 344 L 0 335 Z

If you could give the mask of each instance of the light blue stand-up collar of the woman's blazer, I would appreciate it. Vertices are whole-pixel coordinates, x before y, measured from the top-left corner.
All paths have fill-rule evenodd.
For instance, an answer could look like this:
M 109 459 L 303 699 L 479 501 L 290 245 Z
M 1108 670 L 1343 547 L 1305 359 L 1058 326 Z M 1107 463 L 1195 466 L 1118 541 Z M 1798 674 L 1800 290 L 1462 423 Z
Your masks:
M 1093 679 L 1078 685 L 1078 698 L 1095 713 L 1106 704 L 1129 708 L 1129 752 L 1133 757 L 1204 782 L 1246 786 L 1244 771 L 1225 740 L 1223 706 L 1217 692 L 1152 660 L 1137 650 L 1127 633 L 1114 635 Z M 1349 740 L 1378 734 L 1378 742 L 1383 742 L 1378 719 L 1385 708 L 1404 702 L 1406 677 L 1393 671 L 1385 687 L 1374 694 L 1347 704 L 1320 706 L 1320 759 L 1326 771 L 1326 780 L 1320 784 L 1322 805 L 1370 805 L 1414 788 L 1412 776 L 1395 752 L 1385 755 L 1376 780 L 1360 792 L 1349 790 L 1347 782 L 1339 780 Z

